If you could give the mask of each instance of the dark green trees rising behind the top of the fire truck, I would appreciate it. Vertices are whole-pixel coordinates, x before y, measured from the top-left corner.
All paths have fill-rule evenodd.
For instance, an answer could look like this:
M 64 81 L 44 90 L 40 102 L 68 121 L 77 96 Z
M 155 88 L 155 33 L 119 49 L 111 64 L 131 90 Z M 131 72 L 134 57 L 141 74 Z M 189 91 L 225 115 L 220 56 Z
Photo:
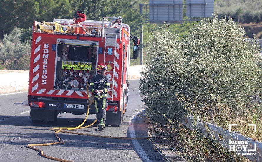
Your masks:
M 0 38 L 10 33 L 14 27 L 31 27 L 36 21 L 72 19 L 76 11 L 82 10 L 89 20 L 102 20 L 105 16 L 123 16 L 123 23 L 130 24 L 137 31 L 139 21 L 137 0 L 6 0 L 0 2 Z M 138 31 L 137 31 L 138 32 Z

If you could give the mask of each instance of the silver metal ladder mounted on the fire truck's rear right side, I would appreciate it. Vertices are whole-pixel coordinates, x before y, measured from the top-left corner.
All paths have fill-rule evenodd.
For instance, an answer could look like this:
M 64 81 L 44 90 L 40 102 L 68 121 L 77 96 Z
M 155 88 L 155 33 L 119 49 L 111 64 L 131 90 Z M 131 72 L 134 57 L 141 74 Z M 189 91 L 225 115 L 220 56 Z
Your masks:
M 108 73 L 112 73 L 113 74 L 113 78 L 112 78 L 112 81 L 109 81 L 109 82 L 112 82 L 112 90 L 110 90 L 111 92 L 112 92 L 112 99 L 111 99 L 111 101 L 113 101 L 113 96 L 114 96 L 114 87 L 116 86 L 117 87 L 117 83 L 115 82 L 115 74 L 116 74 L 116 72 L 115 72 L 115 65 L 116 65 L 116 62 L 115 62 L 115 57 L 116 57 L 116 45 L 117 45 L 117 33 L 106 33 L 105 34 L 105 49 L 106 49 L 106 47 L 107 46 L 114 46 L 115 47 L 115 50 L 114 51 L 112 51 L 112 52 L 106 52 L 106 50 L 105 50 L 105 52 L 104 52 L 104 64 L 105 63 L 113 63 L 114 64 L 114 68 L 113 68 L 113 71 L 112 72 L 110 72 L 110 71 L 108 71 Z M 105 61 L 105 55 L 106 54 L 114 54 L 115 56 L 114 56 L 114 60 L 113 61 L 111 61 L 111 60 L 109 60 L 109 61 Z M 117 94 L 117 93 L 115 93 L 115 94 Z M 117 96 L 116 96 L 117 97 Z

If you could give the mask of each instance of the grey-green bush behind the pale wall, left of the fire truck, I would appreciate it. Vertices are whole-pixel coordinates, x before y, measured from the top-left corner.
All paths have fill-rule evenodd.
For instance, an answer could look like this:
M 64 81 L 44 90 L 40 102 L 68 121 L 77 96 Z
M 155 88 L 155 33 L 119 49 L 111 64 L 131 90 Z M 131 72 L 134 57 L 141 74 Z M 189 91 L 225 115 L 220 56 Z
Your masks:
M 22 42 L 22 29 L 14 28 L 10 34 L 5 34 L 0 45 L 1 65 L 7 70 L 29 70 L 31 44 Z

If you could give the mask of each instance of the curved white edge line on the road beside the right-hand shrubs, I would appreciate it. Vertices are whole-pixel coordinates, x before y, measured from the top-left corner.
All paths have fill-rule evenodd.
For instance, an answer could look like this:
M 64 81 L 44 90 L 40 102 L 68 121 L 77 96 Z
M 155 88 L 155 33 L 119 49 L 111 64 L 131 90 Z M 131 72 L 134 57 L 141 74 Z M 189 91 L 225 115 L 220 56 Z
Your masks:
M 137 113 L 135 113 L 129 120 L 129 133 L 130 133 L 130 137 L 131 138 L 136 138 L 135 135 L 135 129 L 134 129 L 134 121 L 135 121 L 135 117 L 138 113 L 140 113 L 141 111 L 143 111 L 145 109 L 142 109 L 140 111 L 138 111 Z M 138 154 L 140 155 L 140 157 L 142 158 L 142 161 L 152 161 L 147 154 L 145 153 L 145 151 L 142 149 L 142 147 L 140 146 L 140 144 L 138 143 L 138 140 L 132 140 L 133 145 L 135 146 L 135 149 L 137 150 Z

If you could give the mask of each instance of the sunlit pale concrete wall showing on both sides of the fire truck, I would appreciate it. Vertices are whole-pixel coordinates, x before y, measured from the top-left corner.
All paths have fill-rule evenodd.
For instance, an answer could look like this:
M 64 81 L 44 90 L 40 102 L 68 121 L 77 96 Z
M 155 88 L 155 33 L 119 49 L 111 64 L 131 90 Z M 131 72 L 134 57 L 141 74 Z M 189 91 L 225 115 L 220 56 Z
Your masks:
M 128 79 L 139 79 L 145 65 L 129 67 Z M 0 93 L 28 90 L 29 70 L 0 70 Z

